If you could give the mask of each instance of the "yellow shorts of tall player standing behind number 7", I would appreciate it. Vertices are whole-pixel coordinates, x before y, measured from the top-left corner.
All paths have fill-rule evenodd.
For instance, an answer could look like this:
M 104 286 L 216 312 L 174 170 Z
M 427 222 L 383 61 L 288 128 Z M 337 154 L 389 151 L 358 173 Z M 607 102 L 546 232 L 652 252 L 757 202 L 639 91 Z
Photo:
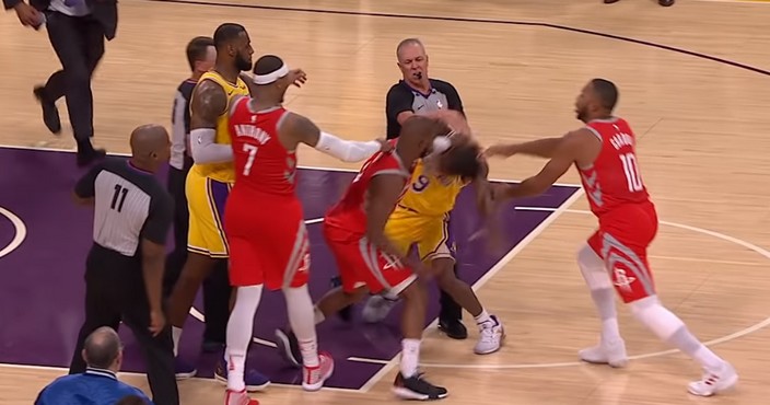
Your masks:
M 232 183 L 218 182 L 191 170 L 185 186 L 190 212 L 187 251 L 213 258 L 228 258 L 230 246 L 224 235 L 224 207 Z

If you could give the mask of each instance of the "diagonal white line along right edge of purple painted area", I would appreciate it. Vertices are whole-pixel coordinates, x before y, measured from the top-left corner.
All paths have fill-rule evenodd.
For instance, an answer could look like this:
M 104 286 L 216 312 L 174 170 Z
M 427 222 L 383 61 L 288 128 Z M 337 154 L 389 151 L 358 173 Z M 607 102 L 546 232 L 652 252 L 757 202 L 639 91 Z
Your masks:
M 575 190 L 575 193 L 573 193 L 570 196 L 570 198 L 568 198 L 564 202 L 562 202 L 558 208 L 551 209 L 553 211 L 552 215 L 548 216 L 548 218 L 546 218 L 542 222 L 540 222 L 532 232 L 529 232 L 529 234 L 527 234 L 521 242 L 516 243 L 516 245 L 513 246 L 513 248 L 505 256 L 503 256 L 494 266 L 492 266 L 492 268 L 489 271 L 487 271 L 480 279 L 478 279 L 478 281 L 474 282 L 474 286 L 472 286 L 474 291 L 478 291 L 481 287 L 483 287 L 483 285 L 486 285 L 487 281 L 489 281 L 492 277 L 494 277 L 494 275 L 497 275 L 500 270 L 502 270 L 502 268 L 505 267 L 505 265 L 509 262 L 511 262 L 520 252 L 522 252 L 522 250 L 524 250 L 524 247 L 526 247 L 529 243 L 532 243 L 532 241 L 534 241 L 535 238 L 539 236 L 540 233 L 542 233 L 542 231 L 546 230 L 546 228 L 548 228 L 553 221 L 557 220 L 557 218 L 559 218 L 562 213 L 567 212 L 568 207 L 570 207 L 575 200 L 578 200 L 582 196 L 583 196 L 583 188 L 578 188 Z M 435 327 L 438 324 L 439 324 L 439 319 L 436 317 L 435 320 L 433 320 L 433 322 L 430 323 L 430 325 L 428 325 L 428 327 L 425 327 L 425 331 L 430 329 L 432 327 Z M 389 361 L 384 361 L 384 360 L 378 360 L 378 359 L 363 359 L 363 358 L 359 358 L 359 357 L 348 358 L 348 360 L 351 360 L 351 361 L 362 361 L 362 362 L 383 361 L 382 364 L 384 364 L 384 367 L 382 369 L 380 369 L 380 371 L 377 371 L 374 375 L 372 375 L 372 378 L 369 379 L 369 381 L 366 381 L 366 383 L 364 383 L 363 386 L 361 386 L 361 391 L 369 392 L 374 386 L 374 384 L 380 382 L 380 380 L 382 380 L 385 377 L 385 374 L 390 372 L 390 370 L 394 367 L 396 367 L 396 364 L 398 362 L 397 359 L 398 359 L 399 355 L 400 355 L 400 350 Z M 372 360 L 374 360 L 374 361 L 372 361 Z

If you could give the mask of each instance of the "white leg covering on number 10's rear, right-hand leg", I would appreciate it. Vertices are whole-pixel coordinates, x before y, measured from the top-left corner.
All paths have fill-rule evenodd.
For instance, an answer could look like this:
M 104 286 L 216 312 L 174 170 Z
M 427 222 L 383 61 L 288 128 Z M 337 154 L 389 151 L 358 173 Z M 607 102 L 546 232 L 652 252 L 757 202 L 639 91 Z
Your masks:
M 703 346 L 684 322 L 663 306 L 656 296 L 631 303 L 633 315 L 657 337 L 698 361 L 701 367 L 716 370 L 724 363 L 719 356 Z

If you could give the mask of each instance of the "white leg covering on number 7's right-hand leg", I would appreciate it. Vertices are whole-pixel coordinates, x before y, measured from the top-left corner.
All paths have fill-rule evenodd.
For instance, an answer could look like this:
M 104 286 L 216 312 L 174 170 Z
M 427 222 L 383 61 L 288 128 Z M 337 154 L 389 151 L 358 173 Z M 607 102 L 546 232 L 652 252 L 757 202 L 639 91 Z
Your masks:
M 292 332 L 300 343 L 302 363 L 305 367 L 318 367 L 318 344 L 315 334 L 317 309 L 313 308 L 307 285 L 299 288 L 284 288 L 287 312 Z M 323 315 L 323 314 L 322 314 Z

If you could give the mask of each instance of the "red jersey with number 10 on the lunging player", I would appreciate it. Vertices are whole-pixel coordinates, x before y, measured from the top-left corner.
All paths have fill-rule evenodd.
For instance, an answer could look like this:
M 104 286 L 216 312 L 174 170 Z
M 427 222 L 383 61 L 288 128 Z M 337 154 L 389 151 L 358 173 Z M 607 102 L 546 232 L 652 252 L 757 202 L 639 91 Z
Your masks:
M 586 128 L 602 140 L 602 152 L 588 167 L 578 167 L 597 217 L 626 204 L 650 201 L 637 163 L 637 137 L 622 118 L 596 119 Z

